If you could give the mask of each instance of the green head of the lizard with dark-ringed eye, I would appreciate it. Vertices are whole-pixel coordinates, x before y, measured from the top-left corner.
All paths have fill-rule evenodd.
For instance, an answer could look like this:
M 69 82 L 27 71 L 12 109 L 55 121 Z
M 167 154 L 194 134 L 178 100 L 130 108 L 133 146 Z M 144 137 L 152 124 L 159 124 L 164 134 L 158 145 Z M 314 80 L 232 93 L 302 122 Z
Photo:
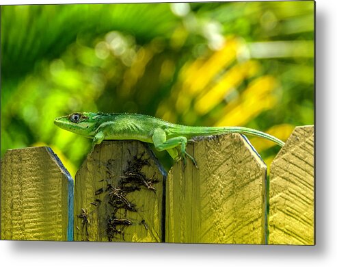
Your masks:
M 54 123 L 58 127 L 82 136 L 94 136 L 97 116 L 92 112 L 74 112 L 72 114 L 55 118 Z

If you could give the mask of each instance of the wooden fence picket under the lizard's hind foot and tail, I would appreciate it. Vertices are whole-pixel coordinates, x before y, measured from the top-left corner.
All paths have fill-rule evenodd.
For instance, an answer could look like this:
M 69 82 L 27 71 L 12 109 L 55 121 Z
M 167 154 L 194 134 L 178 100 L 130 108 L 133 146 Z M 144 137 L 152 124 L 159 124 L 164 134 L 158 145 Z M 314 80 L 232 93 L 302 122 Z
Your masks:
M 243 136 L 194 138 L 167 176 L 166 242 L 265 244 L 266 170 Z

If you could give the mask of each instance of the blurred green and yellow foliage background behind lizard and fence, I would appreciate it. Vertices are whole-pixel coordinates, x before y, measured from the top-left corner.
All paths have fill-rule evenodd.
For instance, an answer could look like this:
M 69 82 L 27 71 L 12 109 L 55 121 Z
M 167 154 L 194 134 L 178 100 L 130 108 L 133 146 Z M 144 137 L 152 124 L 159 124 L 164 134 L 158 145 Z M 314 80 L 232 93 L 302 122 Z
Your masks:
M 53 119 L 75 111 L 286 140 L 314 123 L 314 2 L 1 6 L 1 155 L 46 144 L 74 174 L 90 140 Z

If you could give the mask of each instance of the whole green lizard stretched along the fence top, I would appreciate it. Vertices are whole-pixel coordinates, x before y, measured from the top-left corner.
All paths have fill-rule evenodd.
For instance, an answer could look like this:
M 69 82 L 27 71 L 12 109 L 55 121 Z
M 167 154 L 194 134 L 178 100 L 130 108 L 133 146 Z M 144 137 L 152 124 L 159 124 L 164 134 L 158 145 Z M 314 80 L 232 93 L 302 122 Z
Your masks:
M 75 112 L 55 118 L 54 123 L 62 129 L 93 138 L 92 149 L 103 140 L 140 140 L 154 144 L 158 151 L 167 151 L 174 160 L 181 157 L 186 163 L 187 155 L 196 166 L 194 158 L 186 152 L 187 140 L 193 136 L 242 133 L 271 140 L 281 147 L 284 145 L 284 142 L 268 133 L 246 127 L 184 126 L 141 114 Z

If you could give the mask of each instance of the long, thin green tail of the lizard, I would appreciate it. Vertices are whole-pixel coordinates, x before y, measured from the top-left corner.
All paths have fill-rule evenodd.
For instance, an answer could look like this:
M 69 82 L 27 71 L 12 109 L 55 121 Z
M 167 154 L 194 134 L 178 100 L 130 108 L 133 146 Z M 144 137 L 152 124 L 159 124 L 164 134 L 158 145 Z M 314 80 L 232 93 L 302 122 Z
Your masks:
M 247 136 L 258 136 L 260 138 L 265 138 L 272 142 L 275 142 L 280 147 L 283 147 L 284 142 L 275 136 L 271 136 L 268 133 L 258 131 L 255 129 L 247 127 L 193 127 L 193 126 L 180 126 L 175 129 L 170 129 L 170 132 L 175 136 L 186 136 L 187 138 L 192 138 L 193 136 L 211 136 L 217 134 L 226 133 L 241 133 Z

